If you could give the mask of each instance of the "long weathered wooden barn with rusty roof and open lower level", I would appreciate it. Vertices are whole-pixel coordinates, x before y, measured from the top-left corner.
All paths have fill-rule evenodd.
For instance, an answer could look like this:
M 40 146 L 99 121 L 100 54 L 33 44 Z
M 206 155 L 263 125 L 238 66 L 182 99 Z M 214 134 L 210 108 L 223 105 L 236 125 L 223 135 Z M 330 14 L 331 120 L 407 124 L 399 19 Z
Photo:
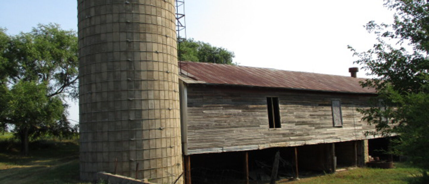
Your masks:
M 361 120 L 356 108 L 369 107 L 376 94 L 360 86 L 362 78 L 199 62 L 178 65 L 187 184 L 190 178 L 202 183 L 198 177 L 228 169 L 254 180 L 259 177 L 252 170 L 260 169 L 262 161 L 271 165 L 276 152 L 296 178 L 302 169 L 335 172 L 337 166 L 368 161 L 368 140 L 374 137 L 364 133 L 374 127 Z M 356 76 L 355 69 L 350 71 Z

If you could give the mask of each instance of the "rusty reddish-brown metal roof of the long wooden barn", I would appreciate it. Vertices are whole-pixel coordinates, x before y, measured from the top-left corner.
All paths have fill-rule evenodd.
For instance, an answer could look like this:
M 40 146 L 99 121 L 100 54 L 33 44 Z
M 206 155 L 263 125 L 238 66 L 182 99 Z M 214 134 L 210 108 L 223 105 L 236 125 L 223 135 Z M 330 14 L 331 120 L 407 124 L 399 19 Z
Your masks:
M 179 66 L 181 80 L 186 83 L 375 93 L 375 90 L 364 89 L 359 85 L 359 81 L 365 80 L 363 78 L 186 61 L 181 61 Z

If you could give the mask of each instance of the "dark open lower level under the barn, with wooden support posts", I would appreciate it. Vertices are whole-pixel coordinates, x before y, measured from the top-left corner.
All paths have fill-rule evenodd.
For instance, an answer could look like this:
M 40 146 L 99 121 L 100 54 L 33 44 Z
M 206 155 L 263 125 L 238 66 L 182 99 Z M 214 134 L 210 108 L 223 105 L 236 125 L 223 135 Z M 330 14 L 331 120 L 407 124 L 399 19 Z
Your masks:
M 371 158 L 389 163 L 390 138 L 374 138 L 262 150 L 184 156 L 186 184 L 257 184 L 296 180 L 366 166 Z

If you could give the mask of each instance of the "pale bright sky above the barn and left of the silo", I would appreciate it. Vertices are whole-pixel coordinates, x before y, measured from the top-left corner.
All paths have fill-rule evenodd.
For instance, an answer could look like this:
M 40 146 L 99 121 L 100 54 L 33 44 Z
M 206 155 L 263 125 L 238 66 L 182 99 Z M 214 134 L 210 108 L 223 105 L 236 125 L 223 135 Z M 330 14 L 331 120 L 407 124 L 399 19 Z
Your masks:
M 55 22 L 76 31 L 76 4 L 0 0 L 0 27 L 14 35 Z M 375 43 L 363 25 L 393 21 L 382 0 L 185 0 L 185 8 L 187 37 L 233 51 L 239 65 L 344 76 L 358 67 L 347 45 L 365 51 Z

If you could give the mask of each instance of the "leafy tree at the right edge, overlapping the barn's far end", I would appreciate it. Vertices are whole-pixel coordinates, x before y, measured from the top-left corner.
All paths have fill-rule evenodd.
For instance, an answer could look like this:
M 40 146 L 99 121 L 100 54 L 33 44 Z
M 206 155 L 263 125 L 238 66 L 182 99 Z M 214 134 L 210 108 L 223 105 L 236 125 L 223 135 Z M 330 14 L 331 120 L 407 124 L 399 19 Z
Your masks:
M 393 152 L 407 155 L 429 170 L 429 3 L 426 0 L 385 0 L 396 10 L 392 25 L 370 21 L 366 29 L 378 36 L 367 52 L 356 52 L 367 75 L 362 83 L 376 89 L 378 98 L 368 109 L 359 109 L 376 127 L 369 134 L 399 135 Z M 389 44 L 395 41 L 395 44 Z M 426 173 L 426 172 L 425 172 Z

